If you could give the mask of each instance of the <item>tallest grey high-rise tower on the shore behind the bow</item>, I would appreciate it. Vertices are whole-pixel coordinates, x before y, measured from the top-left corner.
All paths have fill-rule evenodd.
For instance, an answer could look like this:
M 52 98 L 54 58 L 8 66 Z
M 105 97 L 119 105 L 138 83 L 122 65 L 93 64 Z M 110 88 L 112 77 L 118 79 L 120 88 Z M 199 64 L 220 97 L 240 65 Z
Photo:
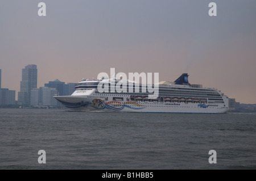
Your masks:
M 27 65 L 22 69 L 22 81 L 18 92 L 19 104 L 30 104 L 31 90 L 38 86 L 38 69 L 36 65 Z

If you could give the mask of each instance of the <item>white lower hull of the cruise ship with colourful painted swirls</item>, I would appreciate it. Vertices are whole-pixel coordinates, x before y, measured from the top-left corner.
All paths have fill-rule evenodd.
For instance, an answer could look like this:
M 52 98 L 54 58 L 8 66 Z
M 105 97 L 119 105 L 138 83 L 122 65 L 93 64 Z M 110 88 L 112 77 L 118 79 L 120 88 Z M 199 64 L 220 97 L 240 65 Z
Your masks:
M 56 96 L 69 111 L 225 113 L 224 104 L 195 102 L 106 101 L 101 96 Z

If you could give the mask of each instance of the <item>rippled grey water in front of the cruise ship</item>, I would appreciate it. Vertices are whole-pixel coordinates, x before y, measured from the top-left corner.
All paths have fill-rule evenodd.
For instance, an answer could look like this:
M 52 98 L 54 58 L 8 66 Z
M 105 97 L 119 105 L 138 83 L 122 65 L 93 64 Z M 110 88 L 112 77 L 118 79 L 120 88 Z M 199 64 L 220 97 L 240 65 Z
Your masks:
M 255 113 L 0 109 L 0 169 L 256 169 L 255 143 Z

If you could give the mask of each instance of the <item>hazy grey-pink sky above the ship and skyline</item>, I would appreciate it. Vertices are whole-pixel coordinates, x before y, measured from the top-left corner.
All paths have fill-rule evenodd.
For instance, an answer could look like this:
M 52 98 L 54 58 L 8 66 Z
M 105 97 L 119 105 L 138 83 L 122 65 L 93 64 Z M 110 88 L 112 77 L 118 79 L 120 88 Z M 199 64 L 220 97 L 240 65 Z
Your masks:
M 116 68 L 158 72 L 159 81 L 188 73 L 192 84 L 256 103 L 255 18 L 255 0 L 1 0 L 2 87 L 18 92 L 28 64 L 38 66 L 38 87 Z

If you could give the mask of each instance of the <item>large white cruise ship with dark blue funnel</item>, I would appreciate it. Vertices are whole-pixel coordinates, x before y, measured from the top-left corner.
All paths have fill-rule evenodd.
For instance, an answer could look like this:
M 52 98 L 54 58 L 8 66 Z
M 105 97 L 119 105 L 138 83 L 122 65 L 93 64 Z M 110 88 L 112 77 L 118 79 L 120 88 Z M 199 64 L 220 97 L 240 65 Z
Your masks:
M 69 111 L 225 113 L 229 110 L 227 96 L 217 89 L 191 85 L 187 73 L 174 82 L 159 82 L 157 97 L 143 91 L 142 84 L 139 84 L 139 91 L 133 92 L 98 91 L 100 81 L 109 82 L 109 90 L 118 82 L 115 79 L 111 85 L 110 78 L 83 79 L 72 95 L 55 96 L 55 99 Z M 133 82 L 134 90 L 136 84 Z

